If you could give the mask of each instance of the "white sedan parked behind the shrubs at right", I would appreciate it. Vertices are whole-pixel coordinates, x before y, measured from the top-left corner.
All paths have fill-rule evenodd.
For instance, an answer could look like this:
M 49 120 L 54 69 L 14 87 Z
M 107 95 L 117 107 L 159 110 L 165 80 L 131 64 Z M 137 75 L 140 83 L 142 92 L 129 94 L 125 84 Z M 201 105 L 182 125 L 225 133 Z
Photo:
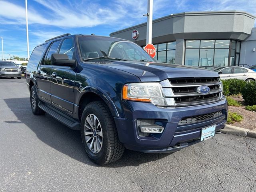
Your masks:
M 214 71 L 220 74 L 220 78 L 225 79 L 242 79 L 244 81 L 255 81 L 256 72 L 245 67 L 219 67 Z

